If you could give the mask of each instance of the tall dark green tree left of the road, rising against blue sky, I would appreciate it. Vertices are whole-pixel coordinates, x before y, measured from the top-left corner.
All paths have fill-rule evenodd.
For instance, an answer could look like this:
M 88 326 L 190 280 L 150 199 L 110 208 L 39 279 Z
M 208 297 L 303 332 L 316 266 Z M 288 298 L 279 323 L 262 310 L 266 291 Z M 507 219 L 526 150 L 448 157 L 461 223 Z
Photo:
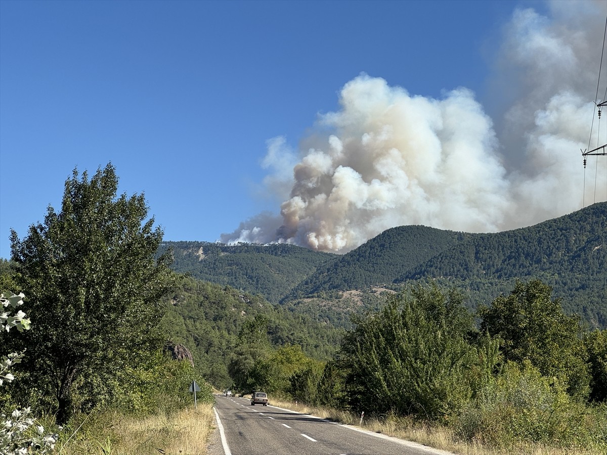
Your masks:
M 59 423 L 76 406 L 110 401 L 120 372 L 160 342 L 159 299 L 174 282 L 170 252 L 154 258 L 163 231 L 148 218 L 144 195 L 118 197 L 117 190 L 110 163 L 90 180 L 74 169 L 60 212 L 49 206 L 23 240 L 11 231 L 36 325 L 23 337 L 24 382 L 53 397 Z

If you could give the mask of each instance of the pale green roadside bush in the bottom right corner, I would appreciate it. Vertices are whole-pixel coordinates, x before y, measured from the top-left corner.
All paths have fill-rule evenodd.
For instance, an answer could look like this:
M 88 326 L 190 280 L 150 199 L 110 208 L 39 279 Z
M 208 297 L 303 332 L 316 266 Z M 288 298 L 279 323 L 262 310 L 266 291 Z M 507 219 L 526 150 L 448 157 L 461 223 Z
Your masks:
M 508 362 L 455 420 L 465 440 L 509 448 L 519 443 L 607 449 L 605 406 L 588 408 L 529 362 Z

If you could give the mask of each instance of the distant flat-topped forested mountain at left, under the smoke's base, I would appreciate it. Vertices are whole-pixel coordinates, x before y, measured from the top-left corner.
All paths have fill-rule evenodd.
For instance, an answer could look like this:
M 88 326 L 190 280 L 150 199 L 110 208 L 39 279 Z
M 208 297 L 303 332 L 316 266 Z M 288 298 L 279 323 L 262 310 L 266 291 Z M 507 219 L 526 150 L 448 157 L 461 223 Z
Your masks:
M 204 241 L 166 241 L 159 255 L 173 249 L 172 268 L 200 280 L 262 294 L 277 303 L 283 295 L 336 254 L 289 244 L 220 244 Z

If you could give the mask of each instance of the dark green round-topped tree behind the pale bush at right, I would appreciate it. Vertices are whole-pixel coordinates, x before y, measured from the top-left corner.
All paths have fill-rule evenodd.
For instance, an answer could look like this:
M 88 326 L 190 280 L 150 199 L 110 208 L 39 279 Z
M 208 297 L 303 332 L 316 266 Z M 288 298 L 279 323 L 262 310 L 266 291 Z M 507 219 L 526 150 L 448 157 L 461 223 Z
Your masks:
M 514 291 L 492 306 L 481 306 L 481 330 L 503 340 L 506 360 L 525 360 L 546 377 L 555 377 L 573 396 L 588 393 L 589 372 L 584 361 L 582 328 L 575 316 L 563 314 L 552 288 L 540 280 L 517 281 Z

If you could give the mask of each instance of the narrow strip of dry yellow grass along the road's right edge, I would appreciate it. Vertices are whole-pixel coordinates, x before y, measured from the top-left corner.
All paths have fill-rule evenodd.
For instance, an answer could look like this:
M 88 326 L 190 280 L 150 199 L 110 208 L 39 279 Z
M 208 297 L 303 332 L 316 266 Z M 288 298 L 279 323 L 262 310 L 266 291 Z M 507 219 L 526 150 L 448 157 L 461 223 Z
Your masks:
M 494 447 L 487 447 L 478 441 L 467 442 L 459 440 L 452 430 L 444 426 L 420 425 L 407 418 L 385 420 L 363 419 L 361 425 L 361 416 L 355 416 L 354 414 L 336 409 L 324 408 L 322 406 L 308 406 L 275 399 L 271 399 L 271 404 L 281 408 L 292 409 L 303 414 L 312 414 L 333 422 L 353 425 L 362 428 L 362 430 L 417 442 L 458 455 L 572 455 L 573 453 L 571 448 L 546 447 L 531 443 L 524 443 L 518 447 L 500 450 Z M 583 448 L 576 448 L 574 453 L 576 455 L 605 454 L 605 452 L 597 452 L 591 449 L 584 450 Z

